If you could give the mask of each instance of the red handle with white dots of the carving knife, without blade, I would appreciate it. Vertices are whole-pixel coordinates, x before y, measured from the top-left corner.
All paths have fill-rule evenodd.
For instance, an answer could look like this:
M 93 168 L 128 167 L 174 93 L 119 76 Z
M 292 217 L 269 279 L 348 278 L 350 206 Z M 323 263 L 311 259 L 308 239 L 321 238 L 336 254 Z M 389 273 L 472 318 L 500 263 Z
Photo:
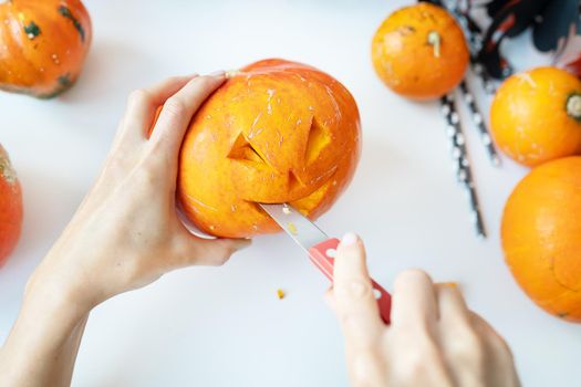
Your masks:
M 332 238 L 309 249 L 309 258 L 331 282 L 333 282 L 333 262 L 338 245 L 339 239 Z M 377 306 L 380 306 L 380 315 L 385 324 L 390 324 L 392 296 L 373 279 L 371 283 L 373 285 L 373 294 L 377 299 Z

